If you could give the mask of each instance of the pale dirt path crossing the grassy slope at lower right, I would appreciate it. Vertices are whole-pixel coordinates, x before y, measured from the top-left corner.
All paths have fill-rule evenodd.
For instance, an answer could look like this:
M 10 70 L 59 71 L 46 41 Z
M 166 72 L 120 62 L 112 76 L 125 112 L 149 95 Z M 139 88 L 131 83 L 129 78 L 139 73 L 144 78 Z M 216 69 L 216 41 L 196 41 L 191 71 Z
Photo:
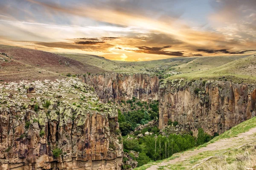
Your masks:
M 157 170 L 161 166 L 166 166 L 169 164 L 176 164 L 178 162 L 185 161 L 192 156 L 196 156 L 196 155 L 198 155 L 198 153 L 202 153 L 204 151 L 212 151 L 212 150 L 217 151 L 217 150 L 224 150 L 227 148 L 235 148 L 235 147 L 242 146 L 246 143 L 256 141 L 255 136 L 253 136 L 254 133 L 256 133 L 256 127 L 250 129 L 248 132 L 239 134 L 237 137 L 221 139 L 212 144 L 208 144 L 206 147 L 201 147 L 200 149 L 191 150 L 191 151 L 189 150 L 182 154 L 179 153 L 178 154 L 179 157 L 169 160 L 169 161 L 162 161 L 158 164 L 148 167 L 146 170 Z M 175 156 L 175 154 L 173 156 Z

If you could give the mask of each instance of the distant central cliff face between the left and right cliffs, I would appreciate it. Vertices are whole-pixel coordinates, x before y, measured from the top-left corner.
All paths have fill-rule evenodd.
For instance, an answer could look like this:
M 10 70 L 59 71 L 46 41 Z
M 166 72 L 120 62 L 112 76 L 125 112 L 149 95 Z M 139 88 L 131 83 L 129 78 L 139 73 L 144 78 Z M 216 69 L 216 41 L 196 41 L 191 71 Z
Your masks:
M 158 99 L 159 79 L 149 74 L 85 74 L 83 82 L 95 88 L 99 98 L 108 102 L 113 99 L 128 100 L 136 97 L 142 101 Z

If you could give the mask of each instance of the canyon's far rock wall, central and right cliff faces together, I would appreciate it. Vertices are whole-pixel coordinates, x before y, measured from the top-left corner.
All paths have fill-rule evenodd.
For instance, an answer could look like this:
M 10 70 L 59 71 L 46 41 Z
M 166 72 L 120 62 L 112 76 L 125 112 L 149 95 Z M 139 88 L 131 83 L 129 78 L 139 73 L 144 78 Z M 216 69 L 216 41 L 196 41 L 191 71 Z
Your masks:
M 217 80 L 158 79 L 150 74 L 86 74 L 79 76 L 95 88 L 103 102 L 136 97 L 159 100 L 159 125 L 169 121 L 197 135 L 202 127 L 221 134 L 256 113 L 256 86 Z M 189 128 L 187 128 L 189 127 Z

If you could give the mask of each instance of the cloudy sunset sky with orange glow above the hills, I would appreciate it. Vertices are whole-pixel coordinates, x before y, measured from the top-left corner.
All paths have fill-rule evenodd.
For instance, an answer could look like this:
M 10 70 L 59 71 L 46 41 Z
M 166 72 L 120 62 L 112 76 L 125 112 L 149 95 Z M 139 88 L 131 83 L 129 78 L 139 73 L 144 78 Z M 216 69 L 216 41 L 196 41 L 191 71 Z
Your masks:
M 0 0 L 0 44 L 113 60 L 256 53 L 256 0 Z

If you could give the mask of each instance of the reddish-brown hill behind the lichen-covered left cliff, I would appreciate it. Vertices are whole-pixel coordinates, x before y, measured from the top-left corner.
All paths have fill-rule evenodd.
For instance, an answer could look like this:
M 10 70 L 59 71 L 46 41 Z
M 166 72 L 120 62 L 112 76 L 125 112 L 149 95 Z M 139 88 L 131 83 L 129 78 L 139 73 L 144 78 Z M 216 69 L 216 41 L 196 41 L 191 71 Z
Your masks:
M 0 45 L 1 79 L 56 79 L 70 74 L 106 72 L 105 70 L 75 59 L 45 51 Z

